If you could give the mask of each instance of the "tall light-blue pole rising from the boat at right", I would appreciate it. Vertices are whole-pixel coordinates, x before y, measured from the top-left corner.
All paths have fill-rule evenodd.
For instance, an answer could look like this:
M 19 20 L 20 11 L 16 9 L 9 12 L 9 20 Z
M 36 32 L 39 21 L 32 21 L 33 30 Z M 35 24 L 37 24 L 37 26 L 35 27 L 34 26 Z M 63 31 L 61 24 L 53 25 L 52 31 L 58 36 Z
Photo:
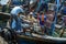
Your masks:
M 52 33 L 54 34 L 54 31 L 55 31 L 55 24 L 56 24 L 56 21 L 57 21 L 57 12 L 58 12 L 58 8 L 59 8 L 59 0 L 55 0 L 55 3 L 56 3 L 56 9 L 55 9 L 55 19 L 54 19 L 54 21 L 53 21 L 53 23 L 52 23 Z M 52 34 L 52 35 L 53 35 Z

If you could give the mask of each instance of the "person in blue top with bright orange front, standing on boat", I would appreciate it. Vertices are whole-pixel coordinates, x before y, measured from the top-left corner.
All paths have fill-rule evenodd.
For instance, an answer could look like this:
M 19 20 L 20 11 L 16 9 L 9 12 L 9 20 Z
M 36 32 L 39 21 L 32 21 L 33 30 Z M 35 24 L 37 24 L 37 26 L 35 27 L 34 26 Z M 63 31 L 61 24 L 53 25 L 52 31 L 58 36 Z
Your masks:
M 40 19 L 40 25 L 41 25 L 42 32 L 44 33 L 46 14 L 44 12 L 41 12 L 41 15 L 38 19 Z

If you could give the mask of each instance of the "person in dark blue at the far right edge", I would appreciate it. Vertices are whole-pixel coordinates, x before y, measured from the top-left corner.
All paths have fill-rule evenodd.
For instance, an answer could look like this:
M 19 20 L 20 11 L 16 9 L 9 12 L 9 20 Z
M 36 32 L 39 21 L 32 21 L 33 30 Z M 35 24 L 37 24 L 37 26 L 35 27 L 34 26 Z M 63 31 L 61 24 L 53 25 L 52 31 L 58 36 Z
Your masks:
M 63 16 L 63 31 L 61 32 L 61 37 L 63 36 L 65 29 L 66 29 L 66 1 L 64 2 L 63 8 L 61 9 L 61 13 Z

